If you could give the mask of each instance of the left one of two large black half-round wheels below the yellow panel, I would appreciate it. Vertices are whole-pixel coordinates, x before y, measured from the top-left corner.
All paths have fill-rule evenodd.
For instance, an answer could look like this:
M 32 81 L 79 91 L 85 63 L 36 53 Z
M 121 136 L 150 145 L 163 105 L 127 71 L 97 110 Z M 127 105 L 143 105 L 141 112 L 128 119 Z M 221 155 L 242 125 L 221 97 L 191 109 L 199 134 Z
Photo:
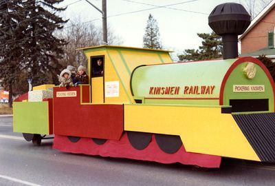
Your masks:
M 152 140 L 152 134 L 146 132 L 127 131 L 127 136 L 131 145 L 138 150 L 145 149 Z

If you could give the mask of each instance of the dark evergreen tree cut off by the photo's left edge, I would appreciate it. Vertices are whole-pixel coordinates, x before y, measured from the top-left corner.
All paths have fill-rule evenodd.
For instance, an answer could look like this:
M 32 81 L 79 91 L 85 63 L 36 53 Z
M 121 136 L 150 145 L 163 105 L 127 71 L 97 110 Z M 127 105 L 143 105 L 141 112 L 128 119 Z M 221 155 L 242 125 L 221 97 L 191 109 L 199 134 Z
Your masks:
M 22 39 L 23 10 L 19 1 L 0 1 L 0 79 L 5 90 L 10 91 L 9 103 L 12 106 L 14 85 L 19 82 L 19 58 L 22 56 L 21 46 L 17 43 Z

